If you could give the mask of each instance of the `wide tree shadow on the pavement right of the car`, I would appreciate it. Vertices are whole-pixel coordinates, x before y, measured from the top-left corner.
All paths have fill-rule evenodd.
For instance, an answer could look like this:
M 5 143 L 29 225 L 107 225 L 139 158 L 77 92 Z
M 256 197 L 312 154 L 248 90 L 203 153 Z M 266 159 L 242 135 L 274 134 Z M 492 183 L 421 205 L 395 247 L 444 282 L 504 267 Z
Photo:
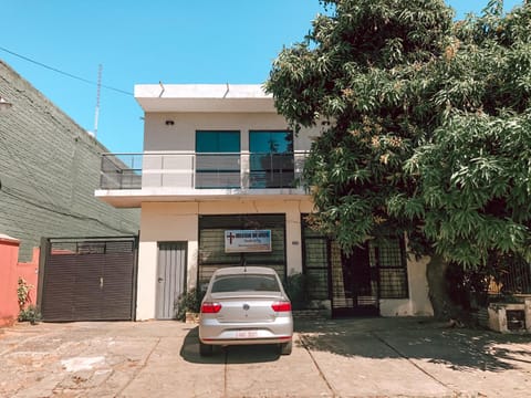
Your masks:
M 531 364 L 531 337 L 449 328 L 425 318 L 350 318 L 299 322 L 303 345 L 345 357 L 408 358 L 451 369 L 502 371 Z

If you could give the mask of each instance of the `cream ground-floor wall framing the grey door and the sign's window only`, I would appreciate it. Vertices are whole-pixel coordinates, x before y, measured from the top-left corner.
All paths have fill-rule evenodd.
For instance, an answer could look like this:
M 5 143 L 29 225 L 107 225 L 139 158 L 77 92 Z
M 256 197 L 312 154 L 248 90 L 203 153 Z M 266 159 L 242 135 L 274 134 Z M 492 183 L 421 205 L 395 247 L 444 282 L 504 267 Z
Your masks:
M 188 287 L 195 286 L 199 214 L 285 213 L 287 269 L 290 274 L 302 272 L 301 213 L 311 211 L 310 200 L 144 203 L 138 252 L 137 320 L 155 317 L 157 242 L 188 242 Z

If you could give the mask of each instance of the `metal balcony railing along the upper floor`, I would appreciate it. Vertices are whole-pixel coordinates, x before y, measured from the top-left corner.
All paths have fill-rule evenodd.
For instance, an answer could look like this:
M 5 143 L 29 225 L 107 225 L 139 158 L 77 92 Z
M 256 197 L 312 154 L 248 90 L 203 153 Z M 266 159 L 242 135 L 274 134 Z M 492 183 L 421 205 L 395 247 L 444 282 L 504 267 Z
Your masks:
M 302 187 L 306 151 L 104 154 L 101 189 Z

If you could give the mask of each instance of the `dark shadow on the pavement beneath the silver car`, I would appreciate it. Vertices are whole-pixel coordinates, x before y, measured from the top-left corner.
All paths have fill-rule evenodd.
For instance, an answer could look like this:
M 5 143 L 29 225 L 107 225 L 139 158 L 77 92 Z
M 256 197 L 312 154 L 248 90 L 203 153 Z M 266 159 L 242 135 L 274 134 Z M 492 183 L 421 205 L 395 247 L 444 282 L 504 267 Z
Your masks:
M 215 347 L 211 357 L 199 355 L 198 327 L 190 329 L 183 343 L 180 356 L 194 364 L 260 364 L 279 360 L 280 349 L 278 345 L 248 345 Z

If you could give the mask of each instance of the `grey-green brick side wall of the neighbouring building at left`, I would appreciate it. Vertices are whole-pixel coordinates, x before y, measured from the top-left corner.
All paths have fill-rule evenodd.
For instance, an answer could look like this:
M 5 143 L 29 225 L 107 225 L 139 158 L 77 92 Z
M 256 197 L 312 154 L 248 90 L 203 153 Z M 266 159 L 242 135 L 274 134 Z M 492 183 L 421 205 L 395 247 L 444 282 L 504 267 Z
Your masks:
M 20 260 L 41 237 L 136 234 L 138 209 L 94 197 L 108 150 L 1 61 L 0 95 L 13 104 L 0 113 L 0 231 L 20 239 Z

